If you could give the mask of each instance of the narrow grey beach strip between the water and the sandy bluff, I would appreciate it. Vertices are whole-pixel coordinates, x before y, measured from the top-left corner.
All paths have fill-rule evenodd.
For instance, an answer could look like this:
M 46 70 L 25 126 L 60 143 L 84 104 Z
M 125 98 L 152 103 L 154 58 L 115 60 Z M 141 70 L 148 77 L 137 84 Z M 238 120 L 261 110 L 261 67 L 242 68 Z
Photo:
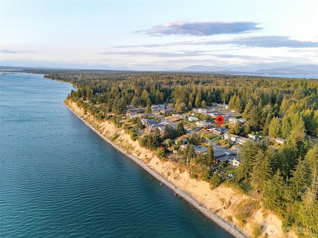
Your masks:
M 149 165 L 147 165 L 145 162 L 143 162 L 141 159 L 139 159 L 136 156 L 133 156 L 129 154 L 127 151 L 122 149 L 120 146 L 116 145 L 112 141 L 110 141 L 106 136 L 101 134 L 97 129 L 95 129 L 89 122 L 87 122 L 85 119 L 81 118 L 72 108 L 70 108 L 66 103 L 64 102 L 64 105 L 77 117 L 79 118 L 85 125 L 87 125 L 91 130 L 93 130 L 95 133 L 97 133 L 104 141 L 109 143 L 112 147 L 117 149 L 119 152 L 121 152 L 123 155 L 129 157 L 132 159 L 136 164 L 138 164 L 142 169 L 147 171 L 149 174 L 151 174 L 155 179 L 159 180 L 161 183 L 165 184 L 168 188 L 174 191 L 175 194 L 178 194 L 179 197 L 181 197 L 183 200 L 190 203 L 193 207 L 195 207 L 197 210 L 199 210 L 202 214 L 204 214 L 206 217 L 208 217 L 210 220 L 212 220 L 214 223 L 216 223 L 219 227 L 221 227 L 223 230 L 227 231 L 229 234 L 236 238 L 248 238 L 246 235 L 243 234 L 242 231 L 240 231 L 237 227 L 234 225 L 226 222 L 221 217 L 219 217 L 217 214 L 215 214 L 213 211 L 210 211 L 203 207 L 200 202 L 198 202 L 196 199 L 194 199 L 191 195 L 183 191 L 182 189 L 175 186 L 173 183 L 162 177 L 158 172 L 153 170 Z

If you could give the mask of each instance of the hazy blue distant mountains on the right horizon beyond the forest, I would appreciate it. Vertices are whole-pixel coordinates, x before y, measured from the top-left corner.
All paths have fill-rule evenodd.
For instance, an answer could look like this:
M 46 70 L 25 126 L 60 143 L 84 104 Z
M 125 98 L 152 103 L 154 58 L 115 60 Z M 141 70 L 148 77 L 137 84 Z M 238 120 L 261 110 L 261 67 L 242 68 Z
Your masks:
M 204 65 L 191 65 L 186 68 L 180 69 L 182 72 L 216 72 L 216 73 L 229 73 L 229 74 L 278 74 L 278 75 L 318 75 L 318 65 L 316 64 L 301 64 L 290 67 L 259 69 L 256 71 L 248 70 L 233 70 L 230 67 L 219 66 L 204 66 Z

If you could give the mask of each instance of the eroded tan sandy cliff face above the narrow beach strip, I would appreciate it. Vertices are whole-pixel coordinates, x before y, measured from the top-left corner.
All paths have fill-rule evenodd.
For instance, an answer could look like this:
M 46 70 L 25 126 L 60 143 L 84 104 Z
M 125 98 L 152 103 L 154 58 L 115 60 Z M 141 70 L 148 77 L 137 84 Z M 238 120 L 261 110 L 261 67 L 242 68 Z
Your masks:
M 211 189 L 210 184 L 206 181 L 190 179 L 189 172 L 185 167 L 175 162 L 159 160 L 155 152 L 142 148 L 138 141 L 131 140 L 122 128 L 116 127 L 109 121 L 98 122 L 93 116 L 79 108 L 75 102 L 66 101 L 65 104 L 76 115 L 110 140 L 116 135 L 116 139 L 112 140 L 112 143 L 141 159 L 159 175 L 195 198 L 201 207 L 214 212 L 225 221 L 235 225 L 246 236 L 253 237 L 254 227 L 258 226 L 261 227 L 260 237 L 268 235 L 269 238 L 297 238 L 291 232 L 283 233 L 280 229 L 282 221 L 270 211 L 265 210 L 262 204 L 255 199 L 245 194 L 239 194 L 232 188 L 223 185 Z M 254 206 L 248 214 L 245 214 L 248 204 L 252 203 L 257 203 L 258 206 Z M 241 204 L 243 206 L 240 206 Z M 243 223 L 238 219 L 240 216 L 245 216 Z

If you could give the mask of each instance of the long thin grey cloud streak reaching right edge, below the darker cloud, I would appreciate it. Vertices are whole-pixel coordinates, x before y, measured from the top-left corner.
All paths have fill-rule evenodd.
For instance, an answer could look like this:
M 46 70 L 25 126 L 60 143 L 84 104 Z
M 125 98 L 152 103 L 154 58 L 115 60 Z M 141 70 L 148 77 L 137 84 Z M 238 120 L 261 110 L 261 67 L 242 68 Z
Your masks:
M 298 41 L 290 39 L 287 36 L 247 36 L 237 37 L 226 40 L 196 40 L 196 41 L 179 41 L 159 44 L 144 44 L 138 46 L 115 46 L 115 48 L 129 48 L 129 47 L 163 47 L 163 46 L 181 46 L 181 45 L 236 45 L 246 47 L 263 47 L 263 48 L 315 48 L 318 47 L 318 42 Z

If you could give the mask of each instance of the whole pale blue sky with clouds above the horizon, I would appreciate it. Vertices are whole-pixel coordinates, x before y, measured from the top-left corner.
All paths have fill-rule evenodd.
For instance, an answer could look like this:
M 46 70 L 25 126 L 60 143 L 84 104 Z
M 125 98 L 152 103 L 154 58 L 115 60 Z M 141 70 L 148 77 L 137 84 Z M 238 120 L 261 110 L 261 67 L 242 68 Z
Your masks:
M 318 64 L 318 0 L 0 0 L 0 65 Z

